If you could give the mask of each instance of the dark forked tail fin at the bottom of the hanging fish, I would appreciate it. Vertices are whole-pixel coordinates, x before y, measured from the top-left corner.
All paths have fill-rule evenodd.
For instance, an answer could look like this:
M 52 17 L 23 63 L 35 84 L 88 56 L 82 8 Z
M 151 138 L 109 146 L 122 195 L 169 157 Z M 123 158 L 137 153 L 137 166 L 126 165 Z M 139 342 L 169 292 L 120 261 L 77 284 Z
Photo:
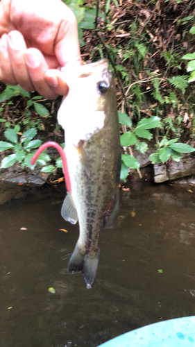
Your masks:
M 83 279 L 87 285 L 87 289 L 91 289 L 96 279 L 96 273 L 99 264 L 99 249 L 98 252 L 92 255 L 91 253 L 83 254 L 80 252 L 78 244 L 74 248 L 74 252 L 69 260 L 68 269 L 70 273 L 82 271 Z

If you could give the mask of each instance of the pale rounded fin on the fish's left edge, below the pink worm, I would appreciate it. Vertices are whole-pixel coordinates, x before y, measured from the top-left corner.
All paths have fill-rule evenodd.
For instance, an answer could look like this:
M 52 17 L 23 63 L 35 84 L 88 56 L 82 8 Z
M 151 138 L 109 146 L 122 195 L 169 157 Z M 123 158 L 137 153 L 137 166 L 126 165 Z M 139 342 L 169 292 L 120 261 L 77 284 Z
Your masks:
M 69 221 L 72 224 L 76 224 L 76 222 L 78 221 L 78 215 L 71 197 L 71 193 L 67 193 L 67 196 L 65 197 L 61 209 L 61 214 L 65 221 Z

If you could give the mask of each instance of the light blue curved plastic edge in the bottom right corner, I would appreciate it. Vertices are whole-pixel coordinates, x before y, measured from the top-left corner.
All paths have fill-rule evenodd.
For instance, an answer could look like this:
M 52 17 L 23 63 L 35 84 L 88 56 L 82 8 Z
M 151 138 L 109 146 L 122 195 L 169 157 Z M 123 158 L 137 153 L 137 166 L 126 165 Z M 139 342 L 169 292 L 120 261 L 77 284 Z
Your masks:
M 103 347 L 194 347 L 195 316 L 146 325 L 115 337 Z

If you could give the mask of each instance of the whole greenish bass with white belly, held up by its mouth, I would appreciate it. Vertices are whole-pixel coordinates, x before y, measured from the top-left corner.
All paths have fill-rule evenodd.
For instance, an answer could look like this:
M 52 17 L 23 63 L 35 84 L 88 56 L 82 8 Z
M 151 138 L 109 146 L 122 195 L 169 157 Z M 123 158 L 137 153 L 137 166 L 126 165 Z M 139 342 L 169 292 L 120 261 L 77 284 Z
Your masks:
M 79 223 L 80 235 L 69 272 L 82 271 L 90 289 L 99 263 L 103 227 L 112 228 L 119 212 L 121 146 L 115 82 L 103 59 L 67 71 L 69 94 L 58 111 L 65 129 L 65 153 L 71 183 L 62 217 Z

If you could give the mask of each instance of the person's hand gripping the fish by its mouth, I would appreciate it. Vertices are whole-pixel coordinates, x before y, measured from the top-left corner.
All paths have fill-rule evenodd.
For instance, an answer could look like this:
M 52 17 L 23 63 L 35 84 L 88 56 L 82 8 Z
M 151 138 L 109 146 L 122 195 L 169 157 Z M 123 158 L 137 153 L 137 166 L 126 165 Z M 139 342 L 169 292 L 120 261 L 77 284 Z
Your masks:
M 61 0 L 0 1 L 0 79 L 46 99 L 67 94 L 58 69 L 80 64 L 76 17 Z

